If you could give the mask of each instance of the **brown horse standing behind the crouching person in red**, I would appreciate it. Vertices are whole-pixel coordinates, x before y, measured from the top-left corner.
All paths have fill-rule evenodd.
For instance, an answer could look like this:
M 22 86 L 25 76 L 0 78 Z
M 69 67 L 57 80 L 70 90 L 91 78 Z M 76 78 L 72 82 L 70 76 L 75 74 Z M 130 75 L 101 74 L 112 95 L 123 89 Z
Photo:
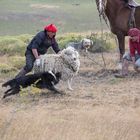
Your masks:
M 112 33 L 117 36 L 120 51 L 120 60 L 125 52 L 125 36 L 129 30 L 131 9 L 125 7 L 124 0 L 96 0 L 99 16 L 107 22 L 109 20 Z M 140 6 L 135 10 L 136 27 L 140 28 Z

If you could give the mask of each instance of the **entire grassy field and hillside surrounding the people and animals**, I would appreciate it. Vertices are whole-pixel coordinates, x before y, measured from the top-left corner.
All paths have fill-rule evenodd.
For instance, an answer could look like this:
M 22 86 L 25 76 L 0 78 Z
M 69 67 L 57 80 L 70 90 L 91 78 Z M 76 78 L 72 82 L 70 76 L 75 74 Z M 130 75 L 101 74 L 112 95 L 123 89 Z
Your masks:
M 80 55 L 74 90 L 61 81 L 63 96 L 31 86 L 3 100 L 2 84 L 24 65 L 32 37 L 51 22 L 61 49 L 85 37 L 94 42 L 94 53 Z M 114 77 L 118 47 L 103 29 L 95 0 L 0 0 L 0 140 L 140 140 L 140 74 Z

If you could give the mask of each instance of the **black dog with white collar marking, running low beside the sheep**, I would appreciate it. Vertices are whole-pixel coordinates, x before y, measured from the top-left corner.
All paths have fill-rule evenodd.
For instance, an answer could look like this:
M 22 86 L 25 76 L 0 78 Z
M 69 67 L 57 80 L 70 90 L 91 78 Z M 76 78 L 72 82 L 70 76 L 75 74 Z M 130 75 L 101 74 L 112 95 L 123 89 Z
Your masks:
M 21 76 L 19 78 L 14 78 L 2 85 L 3 87 L 10 86 L 10 89 L 5 91 L 3 98 L 6 98 L 10 95 L 18 94 L 21 88 L 26 88 L 28 86 L 31 86 L 32 84 L 34 84 L 34 86 L 38 88 L 46 88 L 59 93 L 54 85 L 59 82 L 60 78 L 60 73 L 53 74 L 52 72 L 36 73 Z

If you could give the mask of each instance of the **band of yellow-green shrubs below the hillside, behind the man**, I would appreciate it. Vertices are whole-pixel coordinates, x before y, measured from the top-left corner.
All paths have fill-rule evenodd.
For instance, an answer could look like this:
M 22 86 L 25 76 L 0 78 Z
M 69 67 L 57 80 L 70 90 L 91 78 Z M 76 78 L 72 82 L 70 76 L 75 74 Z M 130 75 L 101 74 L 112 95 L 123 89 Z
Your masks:
M 80 42 L 82 38 L 90 38 L 94 44 L 89 49 L 91 52 L 107 52 L 115 47 L 113 36 L 110 33 L 104 33 L 104 37 L 101 37 L 100 33 L 94 35 L 91 34 L 78 34 L 69 33 L 57 36 L 57 41 L 61 49 L 65 48 L 69 42 Z M 25 50 L 32 35 L 23 34 L 19 36 L 1 36 L 0 37 L 0 54 L 5 56 L 0 64 L 0 73 L 5 75 L 6 73 L 13 73 L 21 69 L 25 64 Z M 49 49 L 48 53 L 52 53 Z

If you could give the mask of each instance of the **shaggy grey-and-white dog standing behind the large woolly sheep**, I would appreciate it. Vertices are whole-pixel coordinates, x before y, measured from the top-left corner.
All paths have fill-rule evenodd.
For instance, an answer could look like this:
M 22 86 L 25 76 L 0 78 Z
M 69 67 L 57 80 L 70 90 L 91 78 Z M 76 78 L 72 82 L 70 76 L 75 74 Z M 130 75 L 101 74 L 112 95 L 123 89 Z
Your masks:
M 82 39 L 80 42 L 70 42 L 66 45 L 66 48 L 71 46 L 73 48 L 75 48 L 77 51 L 80 50 L 85 50 L 87 52 L 87 50 L 93 45 L 93 41 L 87 38 Z

